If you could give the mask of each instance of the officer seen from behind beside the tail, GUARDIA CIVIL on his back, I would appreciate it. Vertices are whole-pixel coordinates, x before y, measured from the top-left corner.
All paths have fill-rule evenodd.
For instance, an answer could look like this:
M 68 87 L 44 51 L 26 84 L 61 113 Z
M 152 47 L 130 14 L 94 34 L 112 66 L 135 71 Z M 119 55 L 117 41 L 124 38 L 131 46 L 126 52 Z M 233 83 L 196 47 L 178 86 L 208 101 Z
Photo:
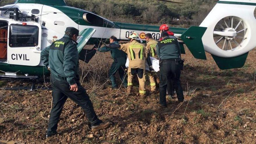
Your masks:
M 166 87 L 168 79 L 172 79 L 174 82 L 178 101 L 184 101 L 183 89 L 180 83 L 182 61 L 180 58 L 180 47 L 176 37 L 169 36 L 167 32 L 161 33 L 161 37 L 163 40 L 161 40 L 156 47 L 160 65 L 159 103 L 166 107 Z

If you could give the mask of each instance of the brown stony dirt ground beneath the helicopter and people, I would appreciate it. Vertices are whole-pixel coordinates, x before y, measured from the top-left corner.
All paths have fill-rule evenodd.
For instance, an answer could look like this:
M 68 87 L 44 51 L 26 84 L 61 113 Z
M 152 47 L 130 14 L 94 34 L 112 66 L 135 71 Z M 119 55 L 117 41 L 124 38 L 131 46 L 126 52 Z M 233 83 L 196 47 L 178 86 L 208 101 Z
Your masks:
M 83 110 L 68 99 L 59 134 L 46 140 L 51 91 L 1 90 L 0 144 L 256 143 L 256 51 L 249 52 L 243 68 L 233 70 L 219 70 L 210 54 L 204 61 L 186 53 L 181 81 L 189 102 L 168 99 L 168 108 L 159 106 L 159 94 L 143 99 L 136 93 L 127 96 L 125 88 L 111 90 L 110 54 L 98 54 L 83 68 L 86 76 L 82 76 L 99 118 L 113 122 L 98 132 L 90 130 Z M 27 83 L 0 81 L 1 87 L 17 85 Z

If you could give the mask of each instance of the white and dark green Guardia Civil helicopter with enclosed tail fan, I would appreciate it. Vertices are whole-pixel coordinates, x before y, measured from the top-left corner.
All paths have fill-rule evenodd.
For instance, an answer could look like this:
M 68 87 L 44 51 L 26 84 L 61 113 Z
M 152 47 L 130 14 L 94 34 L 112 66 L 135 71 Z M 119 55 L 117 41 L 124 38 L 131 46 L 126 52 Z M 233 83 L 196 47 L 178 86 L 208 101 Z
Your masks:
M 248 52 L 256 47 L 255 7 L 256 0 L 219 0 L 200 26 L 170 29 L 179 39 L 182 54 L 186 45 L 197 59 L 206 60 L 205 51 L 210 53 L 221 70 L 243 67 Z M 159 26 L 111 22 L 69 7 L 64 0 L 17 0 L 0 10 L 0 47 L 7 50 L 0 50 L 3 77 L 25 74 L 22 78 L 34 78 L 49 74 L 40 61 L 40 52 L 62 38 L 68 26 L 79 29 L 77 47 L 80 59 L 87 63 L 96 51 L 84 47 L 100 45 L 100 40 L 112 35 L 118 40 L 127 40 L 132 32 L 138 33 L 143 41 L 146 33 L 151 33 L 155 40 L 161 37 Z

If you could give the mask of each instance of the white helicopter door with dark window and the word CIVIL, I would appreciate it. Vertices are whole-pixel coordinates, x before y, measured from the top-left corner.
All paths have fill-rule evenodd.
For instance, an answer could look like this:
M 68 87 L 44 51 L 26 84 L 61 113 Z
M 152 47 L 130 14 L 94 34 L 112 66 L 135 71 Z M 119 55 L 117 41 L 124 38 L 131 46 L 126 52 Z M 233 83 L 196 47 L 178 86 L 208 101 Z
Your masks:
M 37 23 L 10 24 L 8 63 L 37 66 L 40 63 L 41 26 Z M 40 35 L 40 36 L 39 36 Z

